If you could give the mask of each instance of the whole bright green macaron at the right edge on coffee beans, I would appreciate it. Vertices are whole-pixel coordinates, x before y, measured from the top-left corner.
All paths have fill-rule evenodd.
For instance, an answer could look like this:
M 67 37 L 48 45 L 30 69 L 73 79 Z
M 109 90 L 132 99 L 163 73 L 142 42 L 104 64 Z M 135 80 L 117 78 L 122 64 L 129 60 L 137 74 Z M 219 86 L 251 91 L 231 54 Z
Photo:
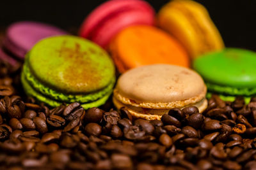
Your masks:
M 256 53 L 239 48 L 225 48 L 194 60 L 194 69 L 204 78 L 211 94 L 220 94 L 225 101 L 256 96 Z

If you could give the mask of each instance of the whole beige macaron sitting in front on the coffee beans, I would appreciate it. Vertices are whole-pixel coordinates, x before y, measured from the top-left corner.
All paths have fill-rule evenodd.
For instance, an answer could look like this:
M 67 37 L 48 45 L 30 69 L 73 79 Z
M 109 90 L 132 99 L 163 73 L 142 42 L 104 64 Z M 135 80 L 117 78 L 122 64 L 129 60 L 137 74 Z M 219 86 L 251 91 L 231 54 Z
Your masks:
M 131 69 L 118 78 L 113 93 L 116 108 L 125 107 L 133 117 L 160 120 L 173 108 L 207 108 L 204 80 L 195 71 L 170 64 Z

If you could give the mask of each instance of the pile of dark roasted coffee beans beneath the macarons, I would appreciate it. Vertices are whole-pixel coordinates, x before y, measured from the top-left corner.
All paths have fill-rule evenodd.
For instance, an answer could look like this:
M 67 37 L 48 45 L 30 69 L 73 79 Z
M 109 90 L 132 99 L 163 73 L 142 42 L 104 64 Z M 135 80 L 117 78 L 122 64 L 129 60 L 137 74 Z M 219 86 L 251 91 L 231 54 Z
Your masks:
M 148 121 L 124 108 L 36 104 L 15 87 L 15 71 L 0 65 L 0 169 L 256 167 L 256 98 L 212 96 L 204 113 L 190 106 Z

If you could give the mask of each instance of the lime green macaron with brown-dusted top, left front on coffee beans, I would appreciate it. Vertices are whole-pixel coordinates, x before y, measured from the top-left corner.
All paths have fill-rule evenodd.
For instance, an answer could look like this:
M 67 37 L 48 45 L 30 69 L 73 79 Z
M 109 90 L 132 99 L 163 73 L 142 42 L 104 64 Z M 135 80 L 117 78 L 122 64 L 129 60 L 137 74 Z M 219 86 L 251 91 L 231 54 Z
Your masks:
M 98 45 L 76 36 L 54 36 L 26 55 L 21 81 L 28 96 L 56 107 L 79 102 L 88 109 L 104 104 L 115 84 L 113 61 Z

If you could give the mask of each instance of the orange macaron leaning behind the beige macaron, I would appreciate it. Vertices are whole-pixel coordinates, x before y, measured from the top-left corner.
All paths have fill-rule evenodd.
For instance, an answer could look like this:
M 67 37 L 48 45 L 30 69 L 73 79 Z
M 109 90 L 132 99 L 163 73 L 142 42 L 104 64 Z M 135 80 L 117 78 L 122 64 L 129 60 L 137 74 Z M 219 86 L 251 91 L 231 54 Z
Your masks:
M 189 57 L 180 43 L 150 25 L 134 25 L 120 31 L 109 45 L 109 53 L 120 73 L 148 64 L 189 67 Z

